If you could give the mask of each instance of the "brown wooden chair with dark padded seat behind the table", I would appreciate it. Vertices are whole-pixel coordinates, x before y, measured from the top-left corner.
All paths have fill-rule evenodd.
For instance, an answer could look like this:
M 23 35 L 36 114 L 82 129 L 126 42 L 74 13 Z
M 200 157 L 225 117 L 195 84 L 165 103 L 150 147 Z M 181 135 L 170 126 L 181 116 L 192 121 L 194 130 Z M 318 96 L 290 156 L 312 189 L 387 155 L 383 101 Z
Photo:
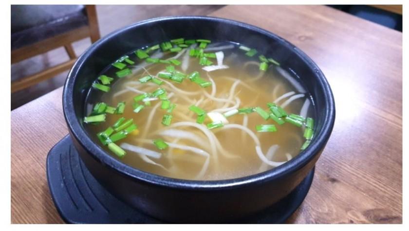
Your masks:
M 36 7 L 36 6 L 33 6 L 33 7 Z M 53 6 L 45 6 L 45 7 L 53 7 Z M 60 9 L 64 9 L 63 8 L 64 6 L 59 6 L 59 7 L 61 7 Z M 48 23 L 48 25 L 46 26 L 37 25 L 37 27 L 39 27 L 38 29 L 36 28 L 36 26 L 34 26 L 34 28 L 33 27 L 23 28 L 23 29 L 20 28 L 21 30 L 18 31 L 17 33 L 13 33 L 13 26 L 12 26 L 12 46 L 11 46 L 12 47 L 12 50 L 11 50 L 11 63 L 12 64 L 20 62 L 24 59 L 28 59 L 30 57 L 36 56 L 38 54 L 45 53 L 49 50 L 56 49 L 58 47 L 65 48 L 65 50 L 68 53 L 68 56 L 70 57 L 70 60 L 62 64 L 59 64 L 57 66 L 53 66 L 51 68 L 42 70 L 31 76 L 26 76 L 24 78 L 11 82 L 11 93 L 22 90 L 27 87 L 30 87 L 32 85 L 35 85 L 38 82 L 50 79 L 56 76 L 58 73 L 70 69 L 76 60 L 76 55 L 75 55 L 73 46 L 71 45 L 73 42 L 86 38 L 86 37 L 90 37 L 91 42 L 94 43 L 100 38 L 99 29 L 98 29 L 98 21 L 97 21 L 96 11 L 95 11 L 95 5 L 86 5 L 85 9 L 83 9 L 84 6 L 78 6 L 78 7 L 82 7 L 82 9 L 80 9 L 79 12 L 70 13 L 71 14 L 70 16 L 72 16 L 73 19 L 70 19 L 70 16 L 62 15 L 63 17 L 61 19 L 54 18 L 52 19 L 53 21 L 51 23 Z M 65 9 L 68 9 L 68 8 L 65 8 Z M 17 9 L 17 11 L 18 10 L 19 9 Z M 20 10 L 20 11 L 23 11 L 23 10 Z M 38 14 L 41 12 L 36 12 L 36 13 Z M 13 14 L 13 6 L 12 6 L 12 14 Z M 16 16 L 20 16 L 21 12 L 17 12 L 15 14 Z M 57 14 L 63 14 L 63 13 L 58 12 Z M 12 16 L 12 19 L 13 19 L 13 16 Z M 25 22 L 23 21 L 22 23 L 24 24 Z M 33 36 L 33 33 L 34 34 L 38 33 L 38 31 L 40 31 L 41 33 L 39 34 L 40 38 L 37 38 L 37 40 L 38 39 L 39 40 L 33 43 L 32 40 L 36 39 L 36 36 Z M 15 35 L 15 37 L 13 37 L 13 35 Z M 49 36 L 49 35 L 52 35 L 52 36 Z M 13 43 L 14 41 L 15 43 Z M 15 48 L 13 49 L 13 47 Z

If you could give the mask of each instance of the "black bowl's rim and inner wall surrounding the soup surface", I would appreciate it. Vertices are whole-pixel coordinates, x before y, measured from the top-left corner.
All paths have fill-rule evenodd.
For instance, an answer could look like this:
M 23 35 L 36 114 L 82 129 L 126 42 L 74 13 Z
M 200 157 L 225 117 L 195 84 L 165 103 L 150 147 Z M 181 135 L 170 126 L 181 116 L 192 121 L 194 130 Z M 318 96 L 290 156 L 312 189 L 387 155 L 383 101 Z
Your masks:
M 269 175 L 260 173 L 259 177 L 272 177 L 288 169 L 299 168 L 323 148 L 334 124 L 334 99 L 324 75 L 308 56 L 279 36 L 254 26 L 221 18 L 184 16 L 150 19 L 113 32 L 93 44 L 74 64 L 64 87 L 64 115 L 75 138 L 80 140 L 84 148 L 95 158 L 109 166 L 122 169 L 132 177 L 148 178 L 153 181 L 164 179 L 126 167 L 127 165 L 123 166 L 124 164 L 93 143 L 81 121 L 88 89 L 106 66 L 131 50 L 179 37 L 231 41 L 255 48 L 264 55 L 278 60 L 284 69 L 297 75 L 299 81 L 303 82 L 311 93 L 316 109 L 316 135 L 313 142 L 292 161 L 267 171 Z M 165 180 L 170 181 L 169 178 Z M 171 181 L 188 182 L 176 179 Z M 243 178 L 243 181 L 246 181 L 246 178 Z

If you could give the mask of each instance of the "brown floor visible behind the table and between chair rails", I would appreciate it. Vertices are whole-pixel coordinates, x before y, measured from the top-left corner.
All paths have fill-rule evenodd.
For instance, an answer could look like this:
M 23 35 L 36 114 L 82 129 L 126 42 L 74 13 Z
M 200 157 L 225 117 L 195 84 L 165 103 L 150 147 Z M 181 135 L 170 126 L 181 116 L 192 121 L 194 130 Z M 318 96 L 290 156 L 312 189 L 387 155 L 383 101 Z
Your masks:
M 101 36 L 122 28 L 131 23 L 160 16 L 175 15 L 208 15 L 222 8 L 223 5 L 97 5 L 97 17 Z M 80 55 L 91 45 L 89 38 L 73 44 L 75 53 Z M 45 54 L 11 65 L 11 80 L 34 74 L 44 68 L 55 66 L 69 60 L 64 48 L 51 50 Z M 11 110 L 36 99 L 65 82 L 68 71 L 56 75 L 55 78 L 38 83 L 35 86 L 11 95 Z

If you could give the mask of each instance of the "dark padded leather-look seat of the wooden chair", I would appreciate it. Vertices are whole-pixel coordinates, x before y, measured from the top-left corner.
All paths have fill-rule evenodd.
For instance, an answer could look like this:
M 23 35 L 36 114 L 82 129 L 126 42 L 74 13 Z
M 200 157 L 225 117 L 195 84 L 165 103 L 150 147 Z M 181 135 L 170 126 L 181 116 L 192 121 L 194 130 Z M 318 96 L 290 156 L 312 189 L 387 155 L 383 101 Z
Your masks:
M 11 50 L 87 24 L 84 5 L 12 5 Z

